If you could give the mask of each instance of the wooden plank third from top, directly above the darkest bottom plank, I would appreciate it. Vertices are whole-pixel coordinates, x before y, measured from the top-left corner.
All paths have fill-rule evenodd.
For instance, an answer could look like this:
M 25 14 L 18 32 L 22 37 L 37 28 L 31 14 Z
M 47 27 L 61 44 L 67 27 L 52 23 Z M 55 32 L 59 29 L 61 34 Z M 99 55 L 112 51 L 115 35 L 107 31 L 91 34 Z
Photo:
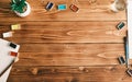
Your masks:
M 119 65 L 123 44 L 21 44 L 16 66 Z

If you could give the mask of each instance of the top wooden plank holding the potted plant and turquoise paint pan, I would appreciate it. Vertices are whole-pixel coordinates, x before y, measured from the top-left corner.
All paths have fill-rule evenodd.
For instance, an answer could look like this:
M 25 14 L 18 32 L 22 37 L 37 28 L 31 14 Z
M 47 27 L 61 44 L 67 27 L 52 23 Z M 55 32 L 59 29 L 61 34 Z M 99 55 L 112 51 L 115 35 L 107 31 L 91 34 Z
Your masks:
M 32 13 L 24 19 L 18 17 L 10 10 L 10 0 L 0 0 L 0 21 L 120 21 L 127 20 L 125 11 L 113 13 L 110 11 L 110 4 L 113 0 L 97 0 L 91 3 L 91 0 L 51 0 L 55 4 L 66 3 L 66 11 L 57 11 L 54 8 L 52 11 L 46 11 L 44 8 L 48 0 L 28 0 L 32 7 Z M 80 8 L 78 13 L 72 12 L 68 8 L 72 3 Z M 107 17 L 106 17 L 107 16 Z

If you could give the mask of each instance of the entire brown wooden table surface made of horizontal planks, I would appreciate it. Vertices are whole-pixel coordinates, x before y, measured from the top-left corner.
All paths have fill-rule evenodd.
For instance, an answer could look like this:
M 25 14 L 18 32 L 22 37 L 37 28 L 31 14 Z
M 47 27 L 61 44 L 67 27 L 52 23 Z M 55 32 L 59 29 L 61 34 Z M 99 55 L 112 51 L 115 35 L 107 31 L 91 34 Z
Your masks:
M 67 4 L 66 11 L 46 11 L 48 1 Z M 11 24 L 21 24 L 13 37 L 4 38 L 21 45 L 20 61 L 8 82 L 131 82 L 118 61 L 124 57 L 125 11 L 109 9 L 113 0 L 28 0 L 32 13 L 18 17 L 10 10 L 10 0 L 0 0 L 0 33 Z M 69 5 L 75 3 L 79 12 Z M 2 37 L 2 36 L 0 36 Z

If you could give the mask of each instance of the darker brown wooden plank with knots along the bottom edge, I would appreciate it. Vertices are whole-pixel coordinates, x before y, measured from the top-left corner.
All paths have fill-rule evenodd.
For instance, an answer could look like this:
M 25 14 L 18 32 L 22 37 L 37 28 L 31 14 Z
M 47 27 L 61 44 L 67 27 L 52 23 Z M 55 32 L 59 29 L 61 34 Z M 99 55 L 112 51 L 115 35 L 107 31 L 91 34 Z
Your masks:
M 33 74 L 33 70 L 37 72 Z M 130 82 L 123 66 L 14 67 L 8 82 Z

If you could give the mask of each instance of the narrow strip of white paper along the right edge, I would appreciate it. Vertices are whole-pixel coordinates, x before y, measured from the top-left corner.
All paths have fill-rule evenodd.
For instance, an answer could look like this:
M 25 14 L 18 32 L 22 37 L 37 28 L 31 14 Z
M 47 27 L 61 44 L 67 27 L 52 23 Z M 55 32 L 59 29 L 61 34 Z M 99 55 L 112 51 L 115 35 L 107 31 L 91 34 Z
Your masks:
M 132 0 L 128 0 L 129 58 L 132 59 Z

